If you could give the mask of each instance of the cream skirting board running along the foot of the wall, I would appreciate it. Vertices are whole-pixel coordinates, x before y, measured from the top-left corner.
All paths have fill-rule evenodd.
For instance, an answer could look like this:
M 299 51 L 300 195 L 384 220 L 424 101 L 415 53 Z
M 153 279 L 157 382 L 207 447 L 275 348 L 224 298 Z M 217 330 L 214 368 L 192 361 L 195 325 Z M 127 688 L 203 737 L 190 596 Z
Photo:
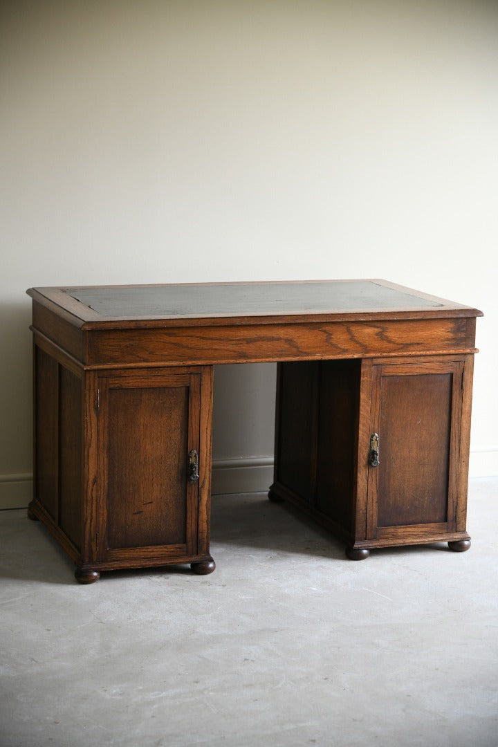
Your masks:
M 498 475 L 498 447 L 478 447 L 470 452 L 470 477 Z M 266 492 L 273 483 L 273 456 L 215 459 L 213 495 Z M 33 475 L 0 475 L 0 510 L 22 509 L 33 495 Z

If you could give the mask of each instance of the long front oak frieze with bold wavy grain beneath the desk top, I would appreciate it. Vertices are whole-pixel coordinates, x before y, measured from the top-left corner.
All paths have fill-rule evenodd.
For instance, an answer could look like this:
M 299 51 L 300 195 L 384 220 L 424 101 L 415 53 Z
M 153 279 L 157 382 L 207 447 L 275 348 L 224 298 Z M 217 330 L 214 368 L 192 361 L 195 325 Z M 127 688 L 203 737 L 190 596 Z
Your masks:
M 88 332 L 87 365 L 220 364 L 429 355 L 467 350 L 464 319 Z

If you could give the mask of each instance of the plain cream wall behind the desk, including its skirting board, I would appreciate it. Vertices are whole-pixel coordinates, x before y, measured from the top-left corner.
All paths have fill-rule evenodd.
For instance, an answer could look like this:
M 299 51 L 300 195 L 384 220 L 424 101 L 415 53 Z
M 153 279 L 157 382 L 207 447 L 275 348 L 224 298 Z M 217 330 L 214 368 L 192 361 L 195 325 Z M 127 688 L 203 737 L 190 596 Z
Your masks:
M 0 12 L 1 505 L 31 489 L 32 285 L 385 277 L 478 306 L 472 474 L 497 474 L 496 4 Z M 216 379 L 218 487 L 264 488 L 274 367 Z

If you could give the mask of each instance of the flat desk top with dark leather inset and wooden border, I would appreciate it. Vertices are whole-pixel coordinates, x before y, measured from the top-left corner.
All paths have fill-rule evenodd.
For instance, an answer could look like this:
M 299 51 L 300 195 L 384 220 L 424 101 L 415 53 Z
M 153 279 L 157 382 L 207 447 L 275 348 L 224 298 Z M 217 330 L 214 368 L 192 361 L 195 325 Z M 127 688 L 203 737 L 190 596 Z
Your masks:
M 31 288 L 86 328 L 147 320 L 248 320 L 255 317 L 480 316 L 481 311 L 380 279 L 107 285 Z M 259 321 L 262 319 L 260 318 Z

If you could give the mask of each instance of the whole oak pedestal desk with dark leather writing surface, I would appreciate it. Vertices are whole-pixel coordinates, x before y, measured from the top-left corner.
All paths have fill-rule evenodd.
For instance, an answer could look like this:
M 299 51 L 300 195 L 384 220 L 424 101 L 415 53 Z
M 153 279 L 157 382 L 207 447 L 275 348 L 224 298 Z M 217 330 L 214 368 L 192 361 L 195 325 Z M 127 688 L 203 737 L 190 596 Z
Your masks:
M 476 317 L 383 280 L 31 288 L 28 515 L 100 571 L 209 551 L 213 366 L 278 362 L 272 500 L 346 542 L 470 546 Z

